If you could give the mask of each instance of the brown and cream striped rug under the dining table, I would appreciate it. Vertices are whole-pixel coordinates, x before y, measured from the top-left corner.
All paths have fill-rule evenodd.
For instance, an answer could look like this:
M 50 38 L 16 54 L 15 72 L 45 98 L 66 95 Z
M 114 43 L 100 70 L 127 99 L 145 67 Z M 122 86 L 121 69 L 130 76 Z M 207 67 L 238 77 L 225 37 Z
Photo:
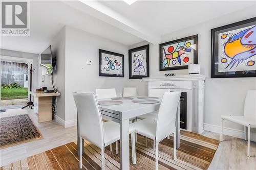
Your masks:
M 153 140 L 138 135 L 136 143 L 137 164 L 132 164 L 130 147 L 130 169 L 155 169 L 155 151 Z M 218 148 L 219 141 L 199 134 L 181 131 L 180 148 L 177 161 L 173 160 L 173 138 L 164 139 L 159 145 L 159 169 L 207 169 Z M 118 147 L 119 147 L 118 143 Z M 14 162 L 1 169 L 29 167 L 30 169 L 79 169 L 76 142 L 67 143 L 49 151 Z M 100 149 L 84 141 L 83 169 L 101 169 Z M 120 169 L 120 154 L 115 154 L 115 147 L 105 148 L 105 169 Z

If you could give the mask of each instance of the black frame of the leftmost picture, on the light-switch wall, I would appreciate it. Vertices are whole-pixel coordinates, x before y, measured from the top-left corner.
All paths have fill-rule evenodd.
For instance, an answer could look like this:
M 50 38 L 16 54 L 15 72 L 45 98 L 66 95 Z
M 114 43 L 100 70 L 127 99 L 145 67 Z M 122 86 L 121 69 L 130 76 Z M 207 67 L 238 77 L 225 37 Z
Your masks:
M 122 62 L 121 62 L 122 74 L 121 75 L 120 74 L 106 74 L 106 73 L 102 73 L 102 71 L 101 71 L 102 54 L 109 54 L 109 55 L 112 55 L 113 57 L 116 56 L 116 57 L 121 57 L 122 58 Z M 112 64 L 113 64 L 113 62 L 112 62 Z M 119 53 L 114 53 L 114 52 L 110 52 L 110 51 L 99 49 L 99 76 L 103 76 L 103 77 L 124 77 L 124 55 L 123 54 L 119 54 Z

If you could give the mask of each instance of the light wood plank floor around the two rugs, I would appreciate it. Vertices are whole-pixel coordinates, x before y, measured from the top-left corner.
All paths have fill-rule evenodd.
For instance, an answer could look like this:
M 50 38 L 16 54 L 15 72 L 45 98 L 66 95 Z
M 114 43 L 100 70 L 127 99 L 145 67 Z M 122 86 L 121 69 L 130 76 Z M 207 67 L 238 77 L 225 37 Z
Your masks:
M 56 148 L 60 145 L 76 140 L 76 127 L 63 128 L 55 121 L 37 123 L 37 117 L 32 110 L 14 110 L 21 114 L 31 113 L 30 117 L 34 125 L 38 127 L 44 139 L 16 145 L 14 147 L 0 150 L 0 166 L 10 164 L 17 160 Z M 2 114 L 2 113 L 1 113 Z M 12 112 L 5 114 L 15 115 Z M 3 114 L 1 115 L 3 117 Z M 219 138 L 219 134 L 205 131 L 203 135 L 210 138 Z M 216 155 L 209 169 L 256 169 L 256 142 L 251 142 L 251 157 L 246 156 L 247 142 L 243 139 L 225 136 L 220 142 Z

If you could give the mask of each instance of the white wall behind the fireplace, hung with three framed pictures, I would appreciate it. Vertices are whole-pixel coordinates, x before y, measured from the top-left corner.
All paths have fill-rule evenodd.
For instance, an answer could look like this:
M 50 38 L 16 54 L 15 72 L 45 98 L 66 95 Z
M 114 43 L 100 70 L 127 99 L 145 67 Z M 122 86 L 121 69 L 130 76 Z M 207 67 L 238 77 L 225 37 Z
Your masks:
M 243 114 L 243 102 L 248 89 L 256 89 L 256 78 L 210 78 L 210 30 L 229 23 L 241 21 L 256 16 L 255 6 L 225 15 L 194 27 L 185 28 L 161 37 L 161 43 L 191 35 L 198 34 L 199 63 L 201 72 L 206 76 L 204 93 L 204 123 L 220 126 L 221 115 Z M 129 47 L 134 48 L 147 42 L 142 42 Z M 187 75 L 188 70 L 159 71 L 159 44 L 150 45 L 150 77 L 164 76 L 167 72 L 175 72 L 177 75 Z M 145 87 L 140 83 L 140 90 Z M 243 130 L 242 126 L 225 122 L 225 127 Z M 252 130 L 254 132 L 254 130 Z M 255 135 L 255 134 L 254 134 Z M 256 139 L 256 136 L 255 136 Z

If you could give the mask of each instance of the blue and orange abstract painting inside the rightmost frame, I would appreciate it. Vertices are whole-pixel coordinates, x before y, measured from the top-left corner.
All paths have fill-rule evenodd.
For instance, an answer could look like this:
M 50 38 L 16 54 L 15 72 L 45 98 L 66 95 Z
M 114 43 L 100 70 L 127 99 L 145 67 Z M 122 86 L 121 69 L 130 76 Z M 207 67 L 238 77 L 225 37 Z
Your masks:
M 256 25 L 219 33 L 219 72 L 256 69 Z

